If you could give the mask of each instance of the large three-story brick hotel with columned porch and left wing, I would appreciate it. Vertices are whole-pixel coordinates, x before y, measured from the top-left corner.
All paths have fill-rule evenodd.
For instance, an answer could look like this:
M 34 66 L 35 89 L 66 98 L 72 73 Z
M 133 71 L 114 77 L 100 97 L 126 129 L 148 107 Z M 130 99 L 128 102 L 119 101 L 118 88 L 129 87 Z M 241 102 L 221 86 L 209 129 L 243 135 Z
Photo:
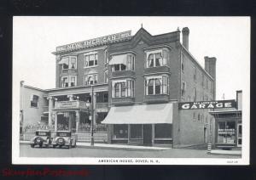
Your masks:
M 215 100 L 216 59 L 206 56 L 203 68 L 189 53 L 189 28 L 152 36 L 142 27 L 134 36 L 125 31 L 75 42 L 54 54 L 55 88 L 21 83 L 20 131 L 39 123 L 90 141 L 93 118 L 96 142 L 214 143 L 208 109 L 178 109 L 180 102 Z

